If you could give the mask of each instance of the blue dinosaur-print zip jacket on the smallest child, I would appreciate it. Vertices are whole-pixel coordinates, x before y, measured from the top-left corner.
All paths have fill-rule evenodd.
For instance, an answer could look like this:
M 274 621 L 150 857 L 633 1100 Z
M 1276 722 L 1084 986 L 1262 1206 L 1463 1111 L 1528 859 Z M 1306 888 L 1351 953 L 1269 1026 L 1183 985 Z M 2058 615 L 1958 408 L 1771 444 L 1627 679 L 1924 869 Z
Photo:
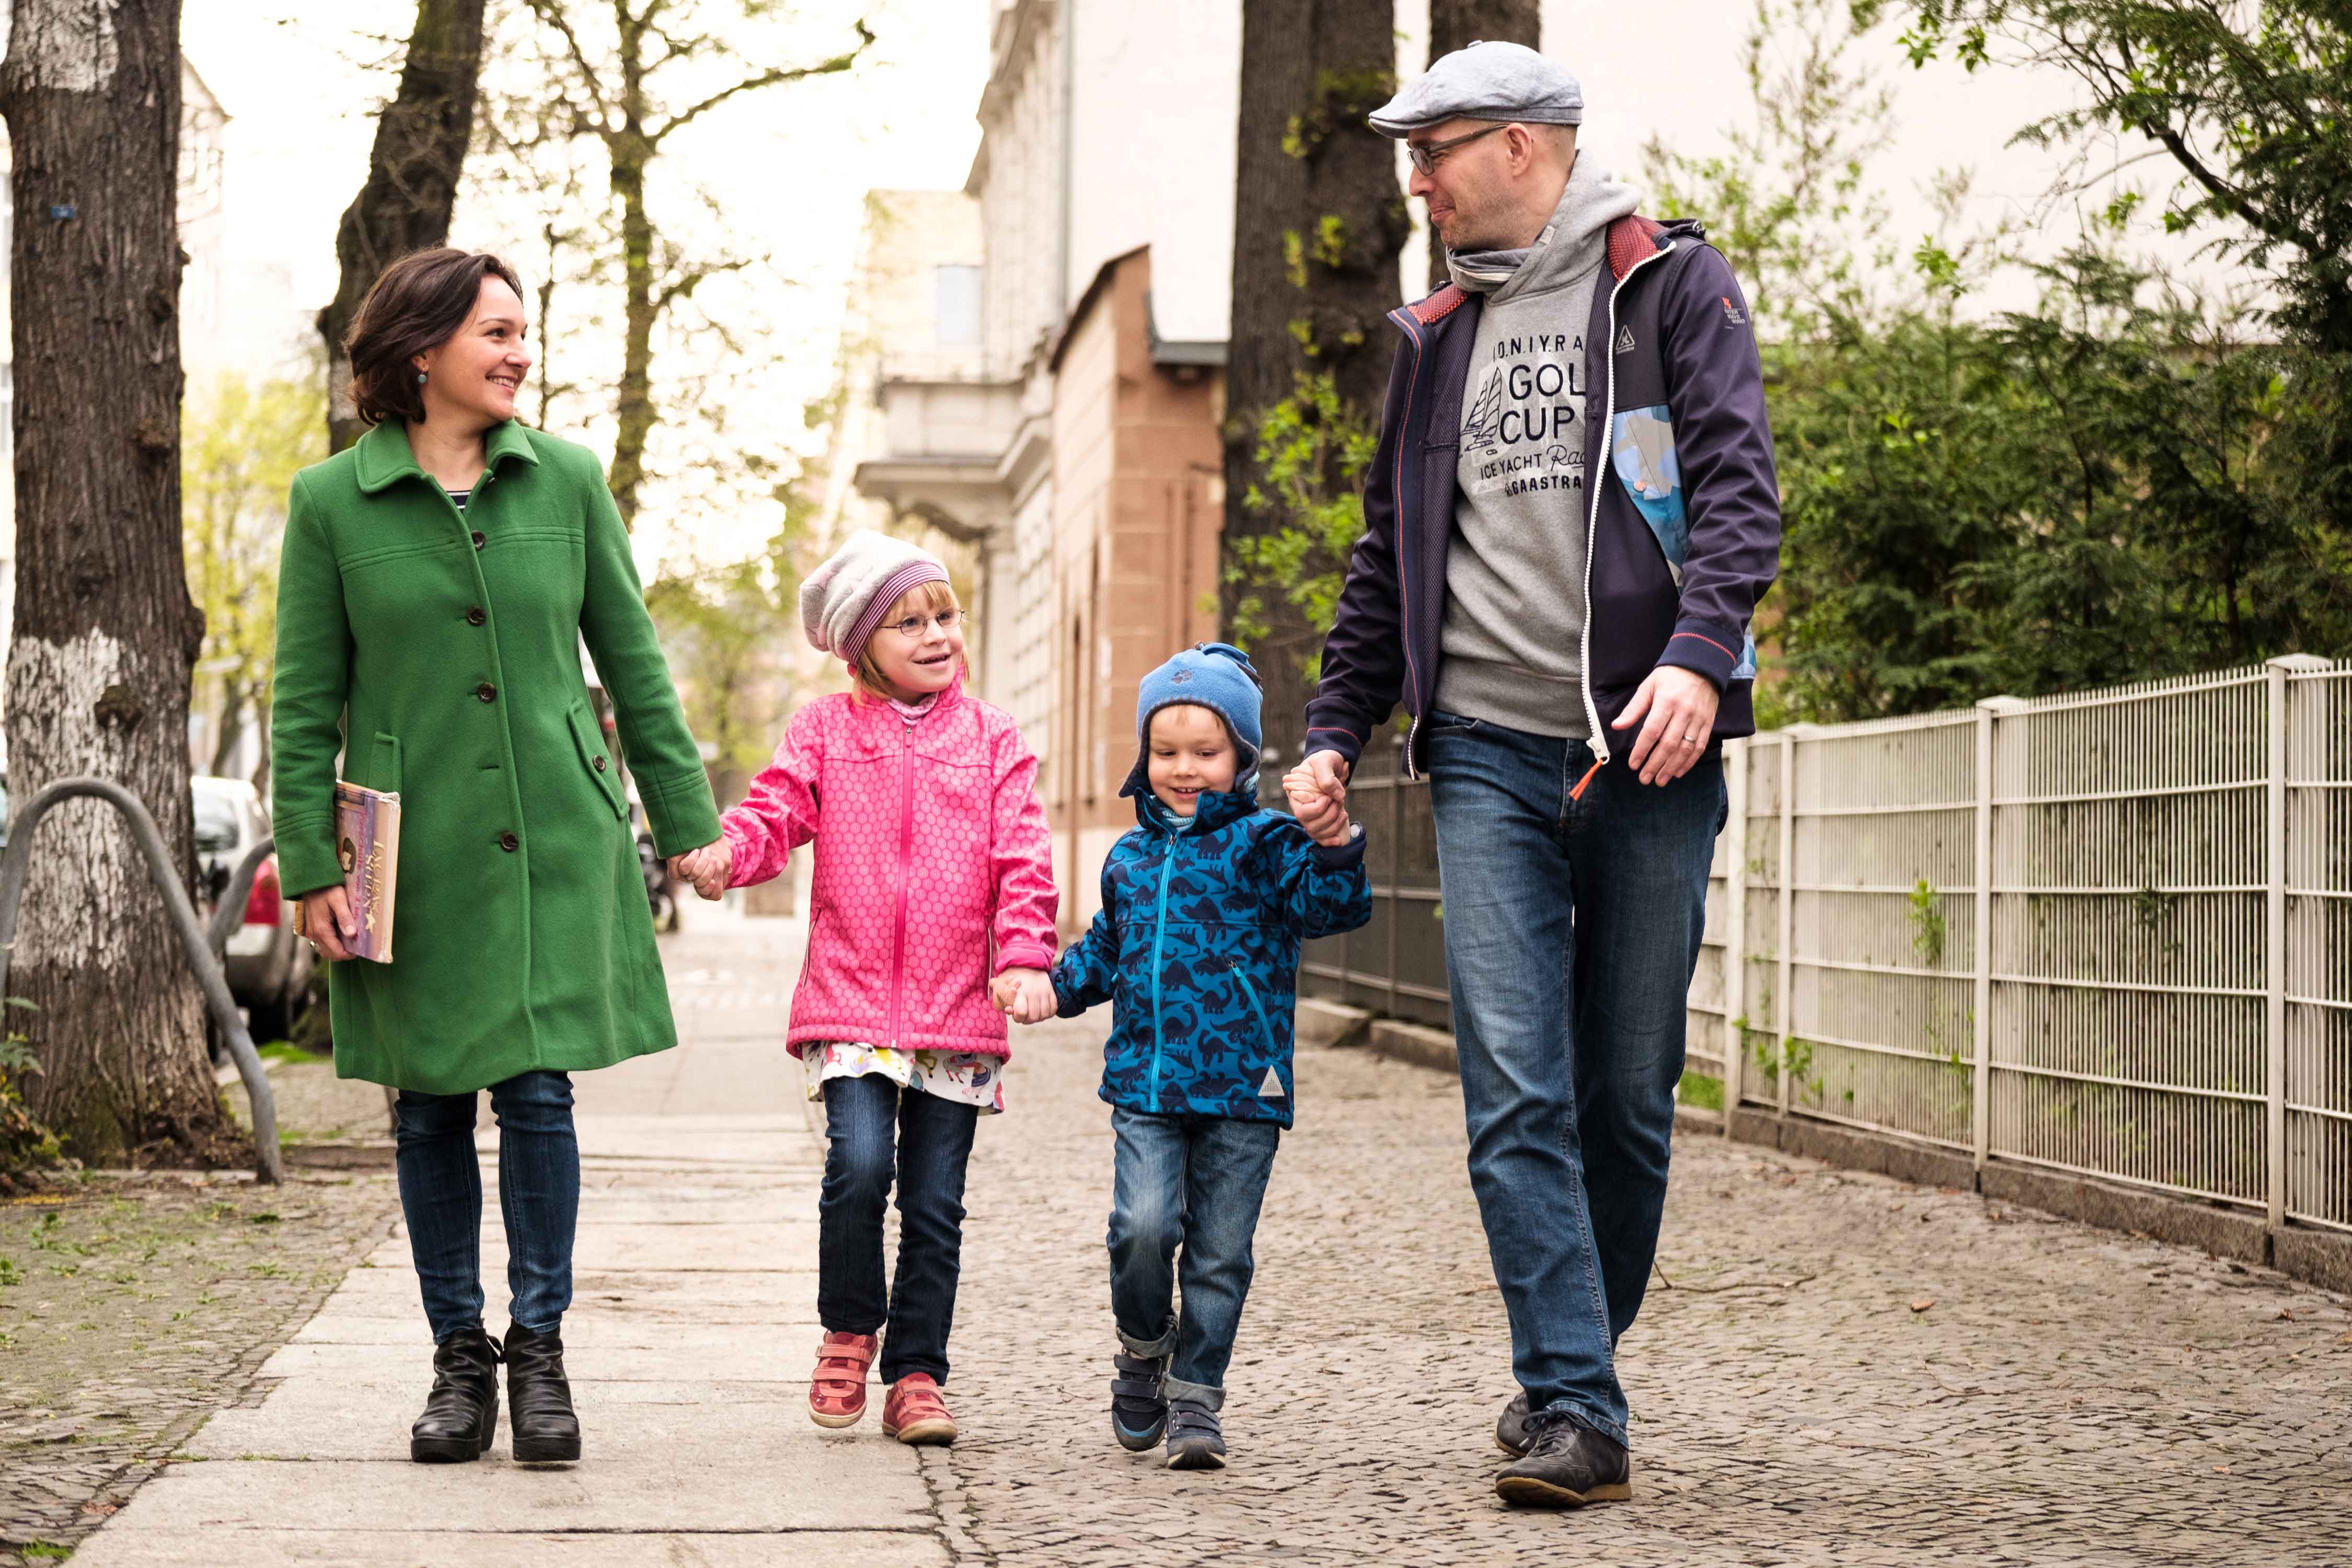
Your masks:
M 1291 1124 L 1298 947 L 1371 919 L 1364 837 L 1322 846 L 1244 780 L 1192 825 L 1136 795 L 1103 910 L 1054 964 L 1061 1016 L 1110 1001 L 1103 1098 L 1167 1117 Z

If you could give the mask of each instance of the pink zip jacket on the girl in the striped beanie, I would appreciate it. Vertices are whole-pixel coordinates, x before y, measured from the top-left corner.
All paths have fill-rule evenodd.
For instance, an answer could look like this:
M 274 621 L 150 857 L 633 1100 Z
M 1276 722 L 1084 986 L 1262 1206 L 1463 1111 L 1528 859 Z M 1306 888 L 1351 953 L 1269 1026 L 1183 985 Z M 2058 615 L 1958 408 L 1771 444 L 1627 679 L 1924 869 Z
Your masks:
M 1058 893 L 1035 785 L 1011 715 L 962 682 L 920 719 L 847 693 L 793 715 L 720 823 L 731 886 L 767 882 L 816 842 L 793 1056 L 811 1039 L 1011 1056 L 988 978 L 1054 966 Z

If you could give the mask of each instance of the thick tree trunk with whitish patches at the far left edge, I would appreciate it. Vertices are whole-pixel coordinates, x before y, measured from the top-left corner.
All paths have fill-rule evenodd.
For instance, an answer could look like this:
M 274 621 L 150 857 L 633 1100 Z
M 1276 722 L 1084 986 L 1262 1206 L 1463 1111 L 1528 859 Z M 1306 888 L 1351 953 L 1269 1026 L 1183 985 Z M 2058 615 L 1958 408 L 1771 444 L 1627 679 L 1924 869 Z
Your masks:
M 205 625 L 179 517 L 179 0 L 14 0 L 16 632 L 9 788 L 96 773 L 193 884 L 188 675 Z M 12 992 L 33 1112 L 71 1152 L 230 1154 L 205 1018 L 132 835 L 101 802 L 40 830 Z

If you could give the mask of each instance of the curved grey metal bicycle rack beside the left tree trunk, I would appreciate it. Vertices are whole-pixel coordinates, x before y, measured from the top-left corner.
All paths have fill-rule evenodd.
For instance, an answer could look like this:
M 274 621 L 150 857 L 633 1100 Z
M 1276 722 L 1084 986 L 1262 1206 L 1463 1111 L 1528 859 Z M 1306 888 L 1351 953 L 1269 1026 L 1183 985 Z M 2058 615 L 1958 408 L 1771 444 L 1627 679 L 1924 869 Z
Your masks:
M 16 952 L 16 907 L 24 903 L 24 884 L 33 870 L 33 835 L 40 827 L 40 818 L 59 802 L 75 797 L 103 799 L 129 823 L 132 837 L 146 856 L 155 893 L 162 896 L 172 929 L 179 933 L 179 945 L 188 952 L 188 969 L 195 971 L 198 985 L 205 987 L 205 1006 L 212 1009 L 212 1020 L 221 1027 L 221 1039 L 228 1041 L 228 1056 L 238 1063 L 238 1077 L 245 1079 L 245 1095 L 254 1107 L 254 1173 L 266 1182 L 285 1180 L 285 1161 L 278 1154 L 278 1100 L 270 1095 L 270 1079 L 261 1070 L 254 1037 L 245 1030 L 245 1020 L 238 1018 L 238 1004 L 228 994 L 228 973 L 221 959 L 238 912 L 245 910 L 245 898 L 252 893 L 254 875 L 261 870 L 261 860 L 270 853 L 275 839 L 261 839 L 245 856 L 238 872 L 228 879 L 228 889 L 221 893 L 212 926 L 205 929 L 195 922 L 195 905 L 188 903 L 188 889 L 179 884 L 179 872 L 162 846 L 162 832 L 155 827 L 155 816 L 146 804 L 111 778 L 59 778 L 24 804 L 16 820 L 9 823 L 7 851 L 0 853 L 0 997 L 7 994 L 7 971 Z

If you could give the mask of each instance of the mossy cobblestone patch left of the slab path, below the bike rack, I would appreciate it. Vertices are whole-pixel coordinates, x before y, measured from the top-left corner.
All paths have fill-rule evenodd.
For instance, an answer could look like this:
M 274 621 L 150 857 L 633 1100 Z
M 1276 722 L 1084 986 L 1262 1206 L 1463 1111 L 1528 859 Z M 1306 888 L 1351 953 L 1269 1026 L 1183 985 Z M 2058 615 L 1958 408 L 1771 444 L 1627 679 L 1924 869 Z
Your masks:
M 259 1396 L 261 1363 L 395 1208 L 390 1175 L 308 1171 L 0 1204 L 0 1563 L 61 1554 L 207 1415 Z

